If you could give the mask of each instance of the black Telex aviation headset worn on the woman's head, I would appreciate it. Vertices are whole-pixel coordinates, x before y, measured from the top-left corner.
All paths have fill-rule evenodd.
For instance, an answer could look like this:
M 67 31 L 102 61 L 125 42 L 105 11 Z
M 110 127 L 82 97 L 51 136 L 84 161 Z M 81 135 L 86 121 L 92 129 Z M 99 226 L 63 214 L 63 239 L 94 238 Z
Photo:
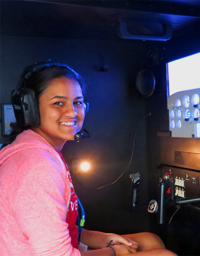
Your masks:
M 18 124 L 27 126 L 31 125 L 32 127 L 39 126 L 40 112 L 38 99 L 32 89 L 26 88 L 26 80 L 33 74 L 39 73 L 50 67 L 66 68 L 78 82 L 82 81 L 82 77 L 78 73 L 76 73 L 71 67 L 60 62 L 48 60 L 26 67 L 21 75 L 21 81 L 18 83 L 17 89 L 14 89 L 11 93 L 11 102 Z M 14 94 L 15 91 L 17 92 Z M 84 100 L 84 107 L 85 113 L 87 113 L 89 110 L 89 103 L 87 100 Z

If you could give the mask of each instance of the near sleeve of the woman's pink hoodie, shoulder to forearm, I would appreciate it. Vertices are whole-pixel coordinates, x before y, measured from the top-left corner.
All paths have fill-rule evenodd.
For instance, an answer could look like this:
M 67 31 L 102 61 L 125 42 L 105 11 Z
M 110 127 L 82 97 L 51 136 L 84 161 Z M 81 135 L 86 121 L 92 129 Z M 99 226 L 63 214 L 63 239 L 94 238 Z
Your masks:
M 22 183 L 13 211 L 33 255 L 80 256 L 66 223 L 70 187 L 61 164 L 44 149 L 26 149 L 15 158 L 21 159 Z

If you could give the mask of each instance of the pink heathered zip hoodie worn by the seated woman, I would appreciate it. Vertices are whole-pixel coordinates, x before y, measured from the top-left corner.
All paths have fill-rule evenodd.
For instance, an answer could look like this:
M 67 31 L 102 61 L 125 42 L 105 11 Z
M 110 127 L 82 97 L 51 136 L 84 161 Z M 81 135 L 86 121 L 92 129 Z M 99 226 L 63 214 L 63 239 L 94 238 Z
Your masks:
M 0 151 L 0 255 L 80 256 L 71 245 L 66 168 L 32 130 Z

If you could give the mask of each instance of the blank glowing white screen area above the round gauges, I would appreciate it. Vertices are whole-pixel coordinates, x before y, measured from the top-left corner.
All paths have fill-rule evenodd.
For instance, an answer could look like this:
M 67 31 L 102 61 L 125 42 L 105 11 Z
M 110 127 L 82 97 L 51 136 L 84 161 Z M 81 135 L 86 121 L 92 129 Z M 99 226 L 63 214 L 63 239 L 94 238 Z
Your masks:
M 200 53 L 167 63 L 167 97 L 200 88 Z

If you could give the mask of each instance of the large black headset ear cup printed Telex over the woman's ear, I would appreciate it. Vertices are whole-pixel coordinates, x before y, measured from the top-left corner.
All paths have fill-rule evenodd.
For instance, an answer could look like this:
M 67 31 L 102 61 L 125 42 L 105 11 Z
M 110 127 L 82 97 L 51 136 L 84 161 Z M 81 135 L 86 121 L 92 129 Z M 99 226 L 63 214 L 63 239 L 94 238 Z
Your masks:
M 37 96 L 32 89 L 24 88 L 12 97 L 15 118 L 18 124 L 38 127 L 40 113 Z

